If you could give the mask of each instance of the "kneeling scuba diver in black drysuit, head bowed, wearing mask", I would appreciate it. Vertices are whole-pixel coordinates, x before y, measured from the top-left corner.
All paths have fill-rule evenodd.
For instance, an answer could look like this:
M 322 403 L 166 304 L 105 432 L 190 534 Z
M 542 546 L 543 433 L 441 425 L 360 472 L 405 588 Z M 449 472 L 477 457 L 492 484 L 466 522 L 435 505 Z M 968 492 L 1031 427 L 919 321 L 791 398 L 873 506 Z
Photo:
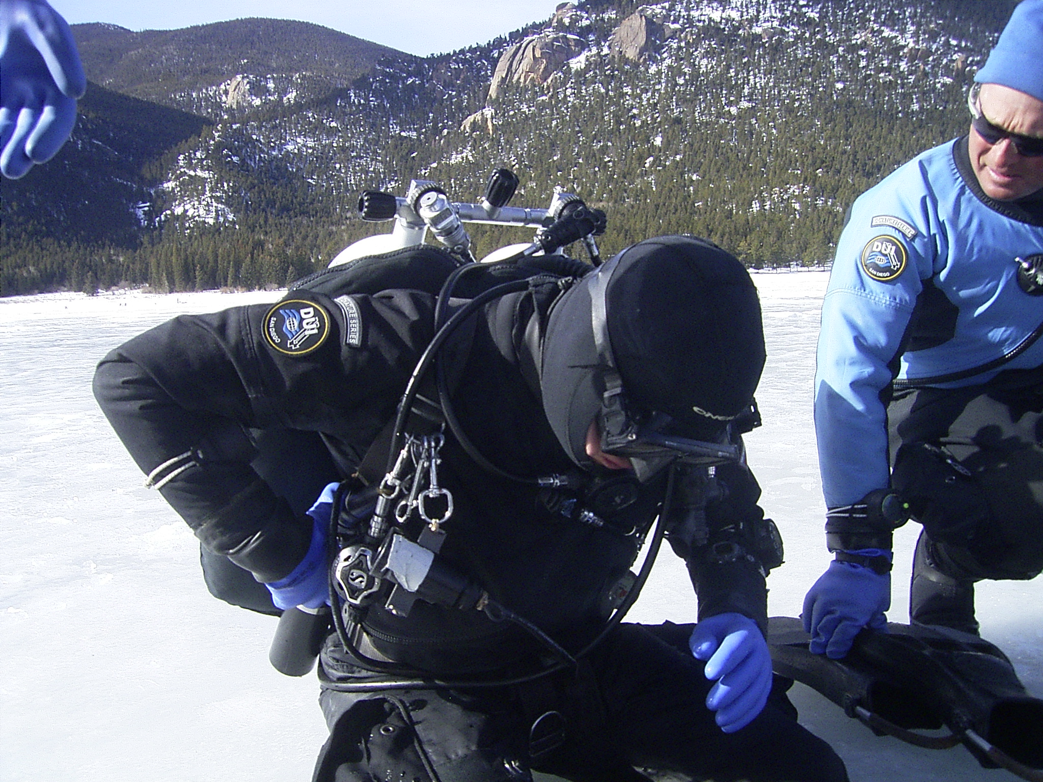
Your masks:
M 95 377 L 212 561 L 281 607 L 333 604 L 315 780 L 846 780 L 772 687 L 781 544 L 739 438 L 765 357 L 742 265 L 690 237 L 596 270 L 360 263 L 452 282 L 345 293 L 331 269 L 275 306 L 175 318 Z M 342 481 L 307 514 L 250 466 L 287 430 L 317 433 Z M 607 619 L 663 527 L 698 625 Z

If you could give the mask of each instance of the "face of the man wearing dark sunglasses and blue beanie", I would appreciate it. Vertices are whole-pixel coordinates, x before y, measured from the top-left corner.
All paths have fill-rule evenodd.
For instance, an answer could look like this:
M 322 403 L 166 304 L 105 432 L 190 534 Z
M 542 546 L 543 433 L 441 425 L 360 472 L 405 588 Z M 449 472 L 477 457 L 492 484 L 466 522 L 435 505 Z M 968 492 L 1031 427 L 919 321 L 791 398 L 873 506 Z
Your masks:
M 978 106 L 989 122 L 1012 133 L 1043 138 L 1043 101 L 1002 84 L 983 84 Z M 971 166 L 981 190 L 997 201 L 1012 201 L 1043 188 L 1043 157 L 1026 157 L 1010 139 L 990 144 L 972 127 Z

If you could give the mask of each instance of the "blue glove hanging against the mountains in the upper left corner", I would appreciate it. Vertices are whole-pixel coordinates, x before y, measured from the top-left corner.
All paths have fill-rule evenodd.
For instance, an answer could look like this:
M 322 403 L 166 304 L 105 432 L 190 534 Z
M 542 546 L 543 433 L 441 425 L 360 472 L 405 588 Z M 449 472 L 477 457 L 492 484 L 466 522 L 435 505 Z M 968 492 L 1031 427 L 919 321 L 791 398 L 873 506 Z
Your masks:
M 66 21 L 44 0 L 0 0 L 0 173 L 17 179 L 53 157 L 86 91 Z

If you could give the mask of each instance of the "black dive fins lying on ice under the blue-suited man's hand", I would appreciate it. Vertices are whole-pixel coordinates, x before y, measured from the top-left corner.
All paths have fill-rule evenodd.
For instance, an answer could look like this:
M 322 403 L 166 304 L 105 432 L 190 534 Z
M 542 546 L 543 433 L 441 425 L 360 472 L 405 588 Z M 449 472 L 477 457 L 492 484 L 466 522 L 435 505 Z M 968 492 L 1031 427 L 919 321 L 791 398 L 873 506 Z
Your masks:
M 874 732 L 932 749 L 962 741 L 983 766 L 1043 782 L 1043 700 L 1025 691 L 999 649 L 945 628 L 889 624 L 888 631 L 863 631 L 843 660 L 812 655 L 793 617 L 772 617 L 768 642 L 776 674 L 808 685 Z M 951 735 L 913 732 L 943 726 Z

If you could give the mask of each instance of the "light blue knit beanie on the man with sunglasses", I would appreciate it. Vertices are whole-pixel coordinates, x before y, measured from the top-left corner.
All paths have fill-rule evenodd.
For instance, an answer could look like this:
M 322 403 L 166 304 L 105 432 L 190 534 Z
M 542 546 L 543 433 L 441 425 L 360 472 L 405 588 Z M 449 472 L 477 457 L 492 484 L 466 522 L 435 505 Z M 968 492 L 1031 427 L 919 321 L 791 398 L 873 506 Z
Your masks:
M 1043 100 L 1043 0 L 1018 3 L 974 80 Z

